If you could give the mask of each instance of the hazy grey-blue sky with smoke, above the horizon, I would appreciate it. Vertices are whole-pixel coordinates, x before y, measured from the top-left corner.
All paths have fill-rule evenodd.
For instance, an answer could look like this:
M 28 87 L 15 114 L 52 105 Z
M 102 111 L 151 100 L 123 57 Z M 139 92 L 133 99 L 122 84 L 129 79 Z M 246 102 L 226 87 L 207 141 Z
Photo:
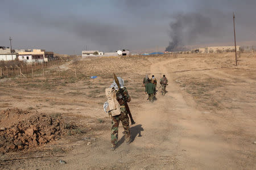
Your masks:
M 256 39 L 255 0 L 0 0 L 0 46 L 132 52 Z M 239 44 L 240 43 L 240 44 Z M 255 44 L 251 44 L 255 45 Z

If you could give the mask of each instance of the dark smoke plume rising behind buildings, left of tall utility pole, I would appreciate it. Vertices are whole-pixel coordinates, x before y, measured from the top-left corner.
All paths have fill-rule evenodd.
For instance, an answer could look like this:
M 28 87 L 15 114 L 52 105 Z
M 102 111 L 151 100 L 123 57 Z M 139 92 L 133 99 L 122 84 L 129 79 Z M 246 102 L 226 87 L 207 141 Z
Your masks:
M 210 18 L 196 13 L 176 15 L 170 23 L 170 28 L 171 41 L 166 48 L 167 52 L 187 50 L 185 45 L 216 32 Z

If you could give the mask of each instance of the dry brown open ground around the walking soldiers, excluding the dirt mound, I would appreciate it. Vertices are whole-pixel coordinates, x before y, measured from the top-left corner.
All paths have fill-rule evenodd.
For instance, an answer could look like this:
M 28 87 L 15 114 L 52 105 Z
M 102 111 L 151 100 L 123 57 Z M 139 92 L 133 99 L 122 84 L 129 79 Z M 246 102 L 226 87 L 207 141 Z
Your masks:
M 9 148 L 0 155 L 0 169 L 255 169 L 256 55 L 240 54 L 238 66 L 234 63 L 233 53 L 88 58 L 61 65 L 60 78 L 52 66 L 47 78 L 37 71 L 34 79 L 0 79 L 0 114 L 19 108 L 60 117 L 66 132 L 40 145 Z M 130 145 L 119 126 L 115 151 L 102 108 L 113 72 L 125 79 L 137 122 Z M 144 95 L 145 74 L 158 80 L 166 74 L 169 80 L 167 94 L 159 93 L 153 104 Z M 90 79 L 93 75 L 98 77 Z M 0 128 L 9 130 L 28 116 L 0 118 L 10 123 Z M 72 133 L 67 123 L 75 127 Z

